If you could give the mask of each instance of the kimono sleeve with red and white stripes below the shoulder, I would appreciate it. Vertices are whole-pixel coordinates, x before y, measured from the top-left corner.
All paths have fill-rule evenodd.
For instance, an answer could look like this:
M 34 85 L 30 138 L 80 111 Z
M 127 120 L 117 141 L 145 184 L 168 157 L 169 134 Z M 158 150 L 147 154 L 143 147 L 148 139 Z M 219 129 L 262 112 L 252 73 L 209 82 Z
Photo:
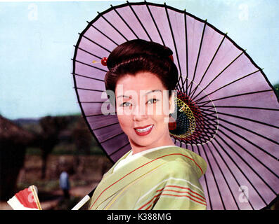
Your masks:
M 153 195 L 154 210 L 204 210 L 205 194 L 195 169 L 185 162 L 170 162 L 167 178 Z

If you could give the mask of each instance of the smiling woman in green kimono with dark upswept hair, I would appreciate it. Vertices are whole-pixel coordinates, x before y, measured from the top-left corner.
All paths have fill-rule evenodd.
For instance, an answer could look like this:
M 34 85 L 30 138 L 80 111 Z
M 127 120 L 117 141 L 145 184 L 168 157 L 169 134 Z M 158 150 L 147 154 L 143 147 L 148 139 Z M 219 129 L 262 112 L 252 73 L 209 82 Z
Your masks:
M 171 90 L 178 81 L 171 55 L 158 43 L 133 40 L 108 57 L 105 87 L 115 91 L 117 118 L 131 151 L 103 176 L 89 209 L 206 209 L 198 181 L 206 162 L 175 146 L 166 122 L 174 113 Z

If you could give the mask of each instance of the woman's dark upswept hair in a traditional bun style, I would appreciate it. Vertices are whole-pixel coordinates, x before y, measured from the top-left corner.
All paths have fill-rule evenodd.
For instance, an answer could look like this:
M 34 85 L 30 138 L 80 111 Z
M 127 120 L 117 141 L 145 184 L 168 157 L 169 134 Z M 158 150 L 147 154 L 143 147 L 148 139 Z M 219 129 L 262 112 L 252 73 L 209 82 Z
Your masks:
M 167 90 L 174 90 L 178 81 L 176 65 L 169 57 L 171 49 L 159 43 L 136 39 L 127 41 L 112 50 L 108 57 L 109 71 L 105 74 L 106 90 L 115 91 L 117 80 L 140 71 L 154 73 Z M 171 91 L 169 91 L 171 96 Z

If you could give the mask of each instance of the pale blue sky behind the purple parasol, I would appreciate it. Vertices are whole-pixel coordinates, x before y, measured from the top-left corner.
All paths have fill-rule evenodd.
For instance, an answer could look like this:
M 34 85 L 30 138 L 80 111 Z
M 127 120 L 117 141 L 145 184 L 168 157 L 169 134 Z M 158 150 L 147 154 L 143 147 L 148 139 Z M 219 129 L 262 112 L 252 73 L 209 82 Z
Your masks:
M 173 0 L 164 3 L 228 32 L 271 84 L 279 83 L 279 1 Z M 38 118 L 79 113 L 74 47 L 97 11 L 126 1 L 0 1 L 0 114 Z

